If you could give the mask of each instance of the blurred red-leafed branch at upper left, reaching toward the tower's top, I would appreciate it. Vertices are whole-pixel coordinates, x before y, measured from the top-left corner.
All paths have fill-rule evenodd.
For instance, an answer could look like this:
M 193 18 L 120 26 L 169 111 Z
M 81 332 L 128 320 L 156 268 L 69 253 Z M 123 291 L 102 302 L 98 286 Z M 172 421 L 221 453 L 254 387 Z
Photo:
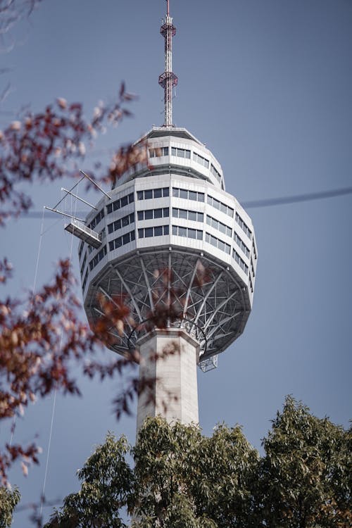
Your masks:
M 19 215 L 32 205 L 30 196 L 18 189 L 20 182 L 56 180 L 77 174 L 75 162 L 82 160 L 87 148 L 106 124 L 117 125 L 130 115 L 125 108 L 134 96 L 122 83 L 114 103 L 99 103 L 91 119 L 84 117 L 81 103 L 57 99 L 44 112 L 26 112 L 0 131 L 0 223 Z M 113 157 L 111 168 L 101 180 L 115 180 L 135 163 L 146 160 L 141 146 L 127 146 Z

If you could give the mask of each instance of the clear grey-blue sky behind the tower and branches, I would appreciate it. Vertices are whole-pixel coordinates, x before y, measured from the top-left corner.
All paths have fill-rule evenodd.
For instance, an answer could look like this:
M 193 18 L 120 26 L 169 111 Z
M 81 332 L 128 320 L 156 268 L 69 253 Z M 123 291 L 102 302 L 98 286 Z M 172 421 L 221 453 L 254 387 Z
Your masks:
M 170 11 L 179 77 L 174 122 L 213 151 L 228 192 L 246 202 L 351 187 L 351 0 L 171 0 Z M 6 37 L 15 46 L 1 55 L 2 67 L 10 68 L 1 87 L 11 82 L 11 91 L 1 103 L 0 128 L 21 106 L 39 111 L 57 96 L 82 101 L 90 113 L 99 99 L 113 99 L 122 80 L 139 96 L 134 118 L 103 136 L 82 169 L 161 125 L 164 13 L 163 0 L 42 0 Z M 34 210 L 54 205 L 60 189 L 61 182 L 32 187 Z M 201 427 L 210 434 L 218 422 L 238 422 L 260 448 L 287 394 L 347 427 L 352 195 L 248 212 L 258 242 L 253 312 L 243 336 L 219 356 L 218 369 L 199 372 Z M 13 294 L 34 282 L 40 231 L 40 218 L 24 218 L 0 232 L 1 249 L 15 266 Z M 44 231 L 37 285 L 70 253 L 60 219 L 45 218 Z M 77 262 L 74 241 L 78 278 Z M 49 501 L 77 489 L 77 468 L 108 429 L 134 442 L 135 417 L 116 422 L 111 412 L 120 389 L 120 380 L 82 380 L 82 398 L 56 399 Z M 26 479 L 19 468 L 11 473 L 23 503 L 42 492 L 52 406 L 48 398 L 18 420 L 14 440 L 37 435 L 43 448 L 40 466 Z M 1 425 L 0 435 L 1 444 L 8 441 L 8 427 Z M 30 526 L 27 516 L 16 514 L 14 528 Z

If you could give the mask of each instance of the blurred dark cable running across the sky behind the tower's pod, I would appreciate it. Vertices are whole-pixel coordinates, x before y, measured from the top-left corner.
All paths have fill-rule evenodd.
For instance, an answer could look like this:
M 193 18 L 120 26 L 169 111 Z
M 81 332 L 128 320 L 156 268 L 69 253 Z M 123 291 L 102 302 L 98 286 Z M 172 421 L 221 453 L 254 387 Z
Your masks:
M 346 194 L 352 194 L 352 187 L 344 187 L 342 189 L 331 189 L 330 191 L 311 192 L 307 194 L 294 194 L 293 196 L 278 196 L 277 198 L 265 198 L 262 200 L 251 200 L 241 202 L 241 206 L 246 209 L 260 208 L 260 207 L 273 207 L 273 206 L 284 206 L 288 203 L 298 203 L 302 201 L 313 201 L 323 200 L 328 198 L 334 198 L 336 196 L 344 196 Z M 77 215 L 87 215 L 88 211 L 78 211 Z M 56 217 L 55 213 L 46 213 L 48 217 Z M 68 215 L 70 216 L 70 215 Z M 33 210 L 28 211 L 22 218 L 42 218 L 42 211 Z

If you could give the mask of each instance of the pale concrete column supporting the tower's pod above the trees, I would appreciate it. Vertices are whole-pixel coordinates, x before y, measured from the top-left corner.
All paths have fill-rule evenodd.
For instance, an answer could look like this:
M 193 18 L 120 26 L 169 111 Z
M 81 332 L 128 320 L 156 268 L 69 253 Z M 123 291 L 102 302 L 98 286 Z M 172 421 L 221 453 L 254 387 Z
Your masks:
M 137 342 L 139 379 L 155 379 L 139 395 L 137 432 L 146 416 L 199 423 L 196 366 L 199 343 L 182 329 L 154 329 Z

